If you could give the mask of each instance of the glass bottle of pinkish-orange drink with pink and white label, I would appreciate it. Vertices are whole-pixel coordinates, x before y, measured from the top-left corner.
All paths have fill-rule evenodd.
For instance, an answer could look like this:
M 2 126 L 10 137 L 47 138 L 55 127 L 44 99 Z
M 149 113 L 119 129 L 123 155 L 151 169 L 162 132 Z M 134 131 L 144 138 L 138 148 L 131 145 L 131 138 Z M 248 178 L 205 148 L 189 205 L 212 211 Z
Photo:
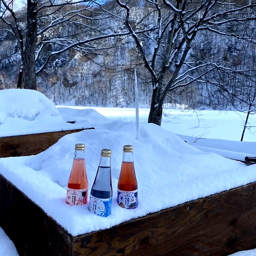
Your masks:
M 88 180 L 84 160 L 84 144 L 75 145 L 72 169 L 68 179 L 67 200 L 70 205 L 87 204 Z

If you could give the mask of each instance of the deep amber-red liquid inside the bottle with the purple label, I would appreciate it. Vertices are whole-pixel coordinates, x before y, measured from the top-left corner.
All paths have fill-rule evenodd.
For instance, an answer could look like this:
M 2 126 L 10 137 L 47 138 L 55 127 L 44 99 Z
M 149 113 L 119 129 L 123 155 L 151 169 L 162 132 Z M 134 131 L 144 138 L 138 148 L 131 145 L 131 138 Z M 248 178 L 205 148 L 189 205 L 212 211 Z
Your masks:
M 122 162 L 117 188 L 123 191 L 138 189 L 133 162 Z

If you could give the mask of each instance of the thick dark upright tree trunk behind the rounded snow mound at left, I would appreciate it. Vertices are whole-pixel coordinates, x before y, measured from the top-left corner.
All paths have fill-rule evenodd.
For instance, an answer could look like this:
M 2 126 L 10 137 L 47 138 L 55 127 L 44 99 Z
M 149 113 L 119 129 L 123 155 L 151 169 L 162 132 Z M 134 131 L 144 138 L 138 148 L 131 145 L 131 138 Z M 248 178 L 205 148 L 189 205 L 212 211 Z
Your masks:
M 37 37 L 37 1 L 28 0 L 27 7 L 27 34 L 24 60 L 24 89 L 36 90 L 36 37 Z

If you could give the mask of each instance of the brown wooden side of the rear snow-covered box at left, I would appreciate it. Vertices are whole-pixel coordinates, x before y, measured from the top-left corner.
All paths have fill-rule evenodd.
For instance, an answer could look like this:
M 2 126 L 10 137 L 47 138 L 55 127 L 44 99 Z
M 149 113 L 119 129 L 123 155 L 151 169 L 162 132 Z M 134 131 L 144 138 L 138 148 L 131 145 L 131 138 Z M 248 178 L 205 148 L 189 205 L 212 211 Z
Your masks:
M 0 137 L 0 157 L 36 155 L 51 147 L 66 134 L 89 129 L 94 128 Z

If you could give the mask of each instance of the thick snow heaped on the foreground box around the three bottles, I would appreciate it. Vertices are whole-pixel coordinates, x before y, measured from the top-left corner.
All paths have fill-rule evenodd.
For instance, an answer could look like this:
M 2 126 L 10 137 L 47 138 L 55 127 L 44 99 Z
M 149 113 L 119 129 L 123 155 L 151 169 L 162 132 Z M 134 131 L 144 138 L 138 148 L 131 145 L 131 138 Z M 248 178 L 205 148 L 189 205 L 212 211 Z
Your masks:
M 96 121 L 91 116 L 92 121 Z M 66 186 L 75 143 L 85 144 L 89 191 L 100 160 L 100 150 L 112 150 L 113 203 L 107 218 L 95 216 L 88 205 L 65 204 Z M 118 206 L 117 181 L 124 144 L 134 147 L 134 164 L 139 186 L 139 206 Z M 115 121 L 95 130 L 62 137 L 36 156 L 0 159 L 0 172 L 73 236 L 110 228 L 126 220 L 219 193 L 256 181 L 256 166 L 246 166 L 214 153 L 196 149 L 174 133 L 154 124 L 140 123 L 135 139 L 135 122 Z

